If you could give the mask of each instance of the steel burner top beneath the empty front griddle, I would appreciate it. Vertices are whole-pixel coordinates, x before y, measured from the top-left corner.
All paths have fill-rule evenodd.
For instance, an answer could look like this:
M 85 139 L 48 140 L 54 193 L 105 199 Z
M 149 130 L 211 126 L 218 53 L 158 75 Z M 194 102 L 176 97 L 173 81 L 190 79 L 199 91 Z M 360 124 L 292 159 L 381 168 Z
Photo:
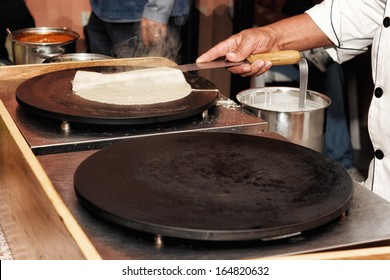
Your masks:
M 73 189 L 73 174 L 94 151 L 38 156 L 65 204 L 104 259 L 250 259 L 336 250 L 390 239 L 390 203 L 356 184 L 346 216 L 319 229 L 282 240 L 199 242 L 164 238 L 103 221 L 84 210 Z

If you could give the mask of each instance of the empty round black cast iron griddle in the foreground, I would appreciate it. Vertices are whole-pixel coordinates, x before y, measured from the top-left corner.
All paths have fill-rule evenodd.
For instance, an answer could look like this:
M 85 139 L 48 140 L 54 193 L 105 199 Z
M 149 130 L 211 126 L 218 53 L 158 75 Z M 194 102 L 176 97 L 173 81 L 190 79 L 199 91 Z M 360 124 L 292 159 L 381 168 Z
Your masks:
M 133 138 L 77 168 L 80 203 L 115 223 L 198 240 L 276 238 L 323 225 L 349 206 L 337 162 L 296 144 L 230 133 Z

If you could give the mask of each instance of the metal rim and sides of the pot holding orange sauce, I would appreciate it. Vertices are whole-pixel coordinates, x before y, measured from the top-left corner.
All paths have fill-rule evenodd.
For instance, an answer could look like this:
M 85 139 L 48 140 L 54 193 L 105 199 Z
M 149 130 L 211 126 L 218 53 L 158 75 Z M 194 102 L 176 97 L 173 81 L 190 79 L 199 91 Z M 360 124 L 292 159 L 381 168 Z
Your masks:
M 23 34 L 47 34 L 66 33 L 74 37 L 73 40 L 59 43 L 25 43 L 18 40 L 18 35 Z M 42 63 L 45 59 L 64 53 L 76 52 L 76 40 L 80 35 L 68 28 L 57 27 L 33 27 L 12 31 L 12 36 L 8 35 L 11 41 L 12 58 L 14 64 L 34 64 Z

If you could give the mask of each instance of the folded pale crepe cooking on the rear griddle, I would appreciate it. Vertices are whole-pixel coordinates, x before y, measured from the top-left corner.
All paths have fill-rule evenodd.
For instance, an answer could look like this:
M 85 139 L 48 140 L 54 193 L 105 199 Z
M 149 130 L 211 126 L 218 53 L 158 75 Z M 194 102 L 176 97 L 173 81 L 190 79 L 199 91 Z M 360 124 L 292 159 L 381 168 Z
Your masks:
M 115 105 L 170 102 L 192 91 L 183 73 L 170 67 L 112 74 L 79 70 L 72 84 L 73 92 L 84 99 Z

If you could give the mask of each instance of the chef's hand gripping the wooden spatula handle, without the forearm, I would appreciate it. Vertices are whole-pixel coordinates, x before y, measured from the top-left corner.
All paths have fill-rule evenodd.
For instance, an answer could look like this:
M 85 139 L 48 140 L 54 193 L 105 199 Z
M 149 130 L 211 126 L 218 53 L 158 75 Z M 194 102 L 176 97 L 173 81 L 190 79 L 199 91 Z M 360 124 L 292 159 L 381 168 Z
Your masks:
M 228 39 L 215 45 L 202 54 L 197 63 L 209 62 L 225 56 L 229 61 L 243 61 L 249 55 L 281 50 L 272 31 L 267 28 L 251 28 L 232 35 Z M 257 60 L 252 64 L 245 64 L 228 68 L 228 71 L 243 77 L 258 76 L 268 71 L 272 66 L 270 61 Z

